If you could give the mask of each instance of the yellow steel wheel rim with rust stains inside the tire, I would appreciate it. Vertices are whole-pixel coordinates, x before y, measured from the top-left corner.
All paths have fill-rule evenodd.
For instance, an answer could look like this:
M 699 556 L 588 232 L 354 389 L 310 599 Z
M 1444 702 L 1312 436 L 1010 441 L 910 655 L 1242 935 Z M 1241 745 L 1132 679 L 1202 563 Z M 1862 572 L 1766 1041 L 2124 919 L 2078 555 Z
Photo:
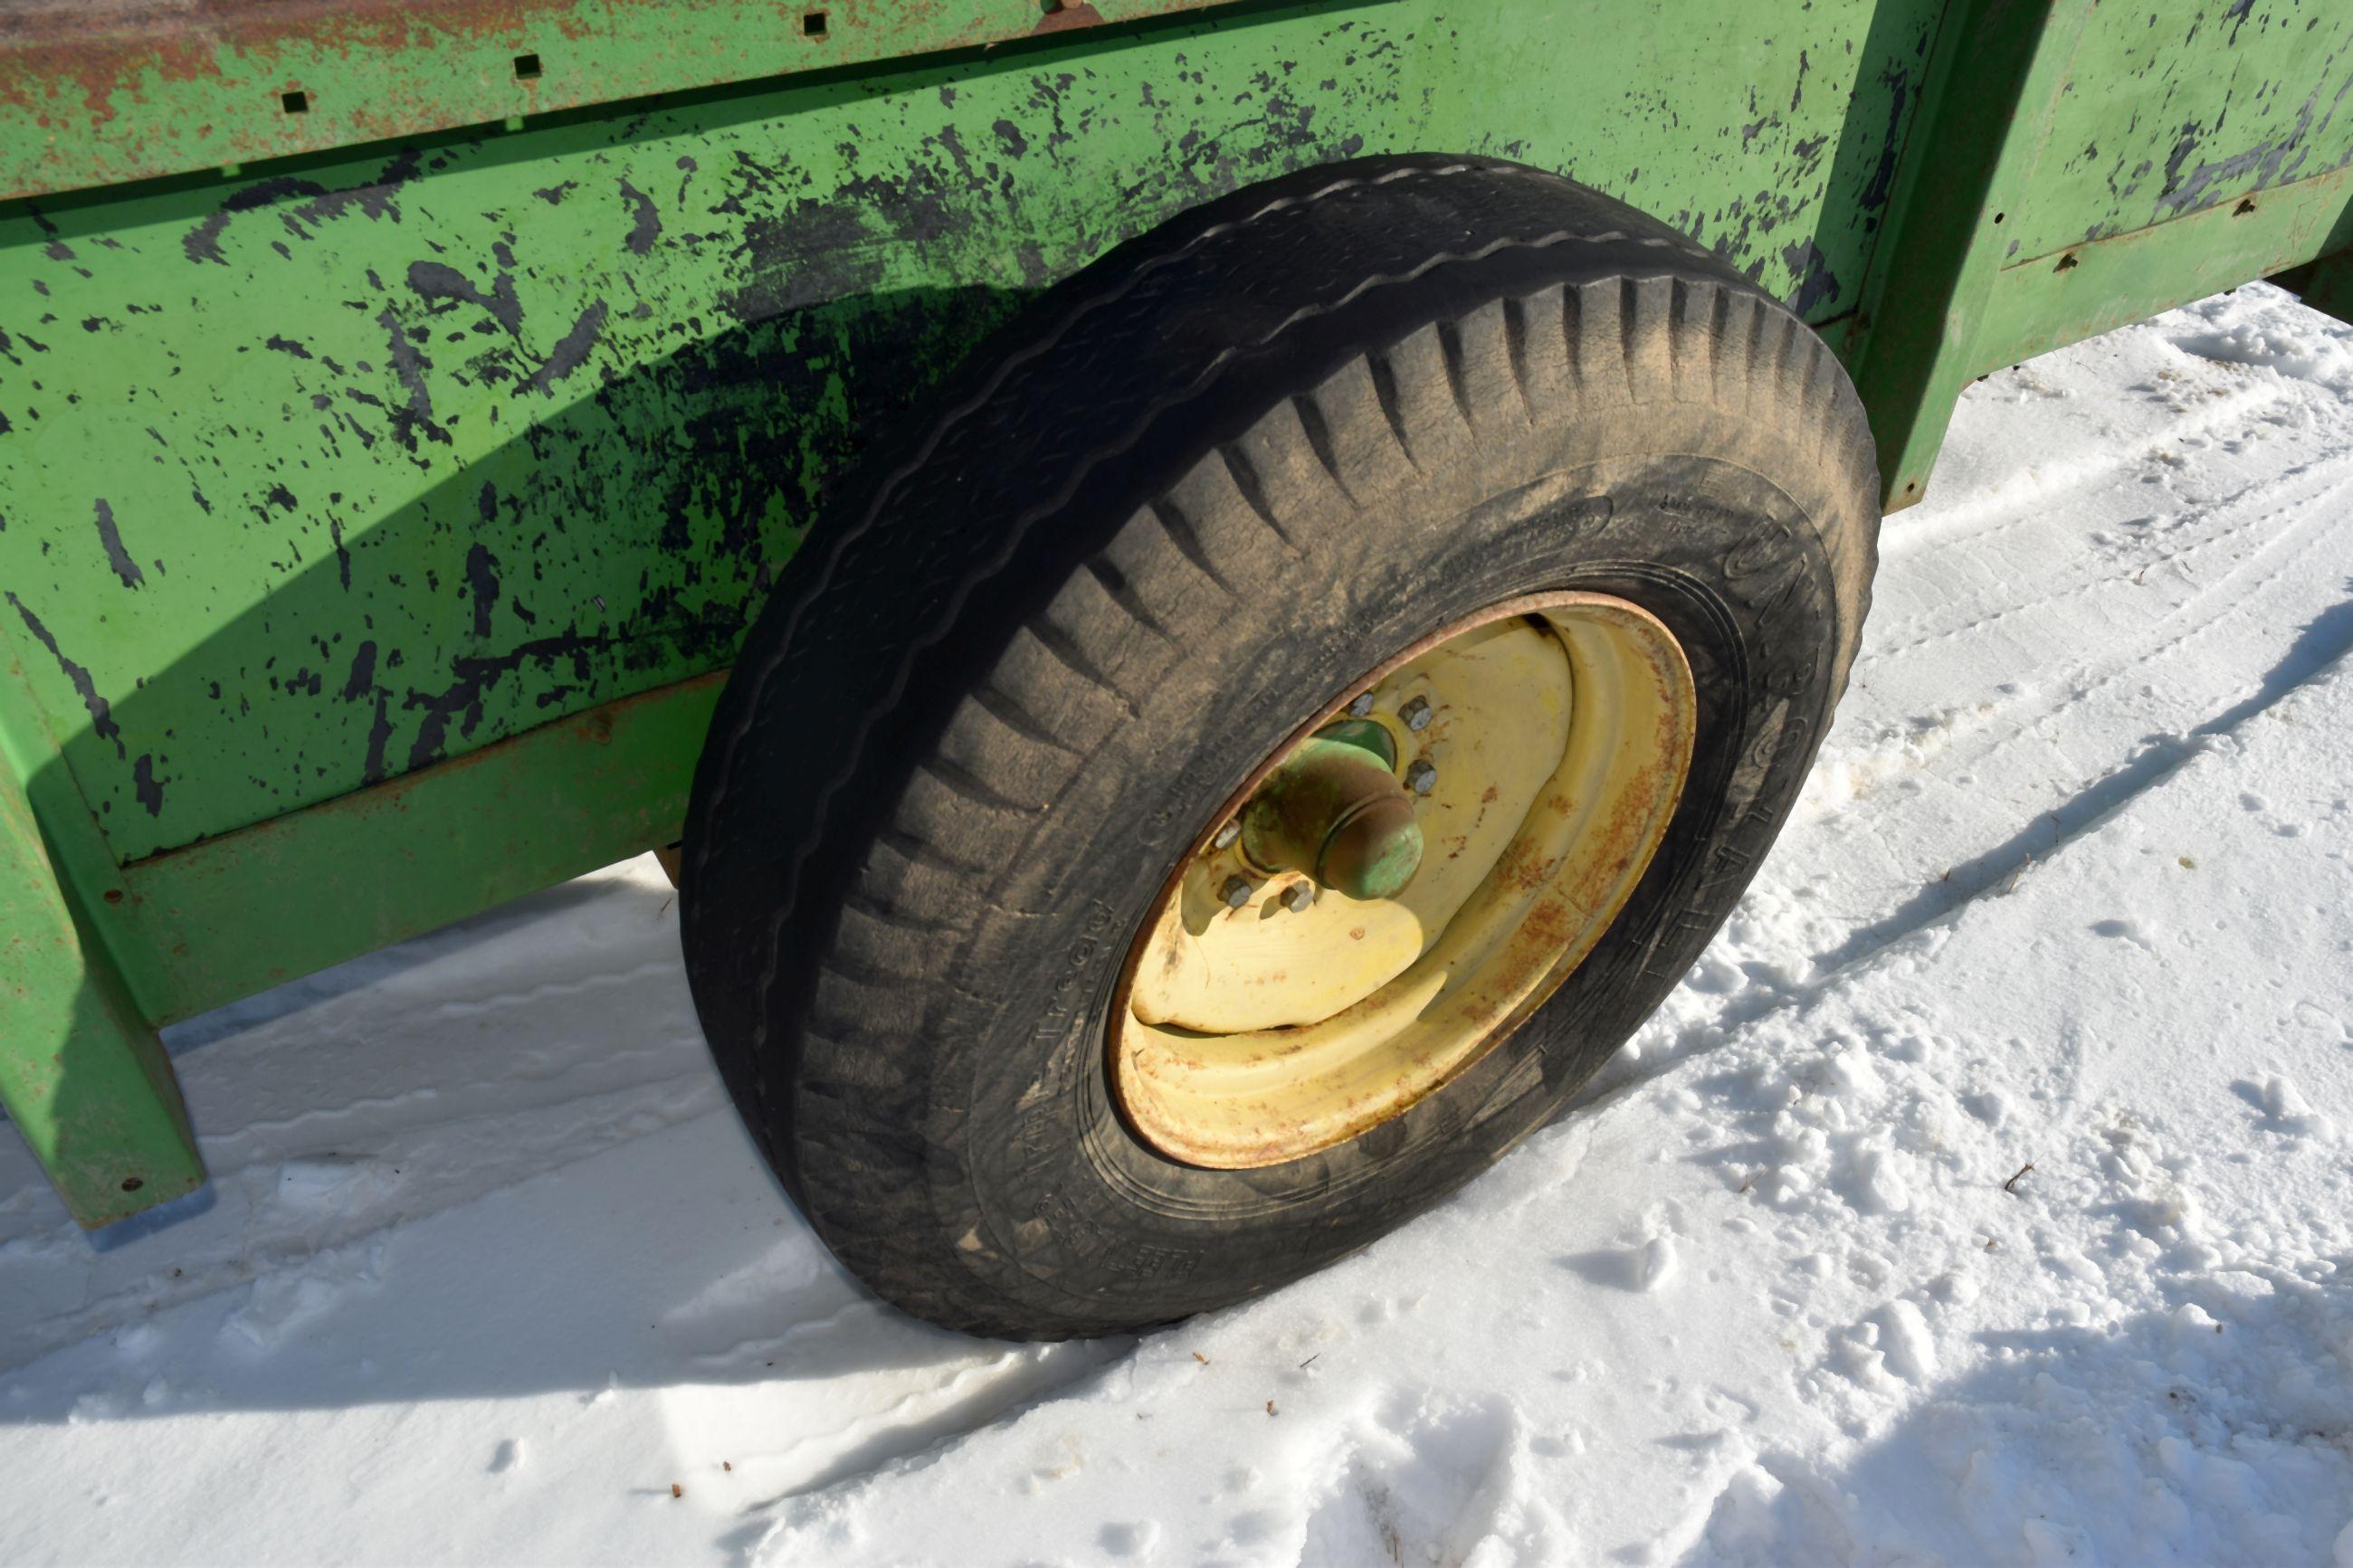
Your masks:
M 1228 827 L 1341 712 L 1381 724 L 1421 788 L 1424 860 L 1395 898 L 1254 867 Z M 1617 919 L 1675 816 L 1694 724 L 1673 632 L 1591 592 L 1489 607 L 1358 682 L 1209 818 L 1144 919 L 1111 1018 L 1129 1126 L 1240 1171 L 1438 1091 Z

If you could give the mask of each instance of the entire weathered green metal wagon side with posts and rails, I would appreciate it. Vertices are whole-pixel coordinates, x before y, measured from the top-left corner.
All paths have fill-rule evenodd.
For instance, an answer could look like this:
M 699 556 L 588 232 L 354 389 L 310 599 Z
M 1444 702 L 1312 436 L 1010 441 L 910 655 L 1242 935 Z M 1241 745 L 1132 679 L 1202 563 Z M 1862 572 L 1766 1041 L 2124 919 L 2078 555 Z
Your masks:
M 1659 212 L 1838 346 L 1889 508 L 1993 367 L 2341 313 L 2353 14 L 2155 12 L 0 0 L 9 1119 L 136 1213 L 202 1180 L 158 1025 L 675 839 L 866 430 L 1249 179 Z

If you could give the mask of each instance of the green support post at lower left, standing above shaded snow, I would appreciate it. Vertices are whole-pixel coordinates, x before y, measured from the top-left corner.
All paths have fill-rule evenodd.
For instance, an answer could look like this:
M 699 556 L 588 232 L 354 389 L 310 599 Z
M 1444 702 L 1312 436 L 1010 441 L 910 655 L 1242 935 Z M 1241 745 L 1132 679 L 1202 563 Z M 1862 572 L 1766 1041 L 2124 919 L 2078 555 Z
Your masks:
M 122 896 L 0 639 L 0 1105 L 75 1220 L 193 1192 L 179 1081 L 82 898 Z

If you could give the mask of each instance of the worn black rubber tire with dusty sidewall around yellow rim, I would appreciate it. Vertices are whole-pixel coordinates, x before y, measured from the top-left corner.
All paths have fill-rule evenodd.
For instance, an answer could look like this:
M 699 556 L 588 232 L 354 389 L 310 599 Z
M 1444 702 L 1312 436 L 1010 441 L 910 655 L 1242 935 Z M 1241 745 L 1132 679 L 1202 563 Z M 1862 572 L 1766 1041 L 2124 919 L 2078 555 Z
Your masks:
M 1379 158 L 1054 287 L 842 482 L 720 701 L 704 1030 L 809 1225 L 988 1335 L 1139 1328 L 1365 1246 L 1551 1119 L 1732 910 L 1861 630 L 1878 473 L 1788 310 L 1553 174 Z M 1207 816 L 1417 637 L 1593 588 L 1699 682 L 1678 816 L 1522 1030 L 1264 1171 L 1139 1143 L 1104 1023 Z

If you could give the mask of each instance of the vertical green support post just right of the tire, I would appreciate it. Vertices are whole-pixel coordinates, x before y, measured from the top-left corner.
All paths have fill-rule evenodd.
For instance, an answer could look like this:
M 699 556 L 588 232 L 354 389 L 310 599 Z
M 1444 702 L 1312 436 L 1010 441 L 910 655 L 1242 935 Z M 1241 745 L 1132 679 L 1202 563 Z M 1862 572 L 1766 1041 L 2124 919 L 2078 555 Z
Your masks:
M 2002 268 L 2005 202 L 2033 181 L 2094 0 L 1953 0 L 1864 280 L 1852 371 L 1885 508 L 1927 491 Z

